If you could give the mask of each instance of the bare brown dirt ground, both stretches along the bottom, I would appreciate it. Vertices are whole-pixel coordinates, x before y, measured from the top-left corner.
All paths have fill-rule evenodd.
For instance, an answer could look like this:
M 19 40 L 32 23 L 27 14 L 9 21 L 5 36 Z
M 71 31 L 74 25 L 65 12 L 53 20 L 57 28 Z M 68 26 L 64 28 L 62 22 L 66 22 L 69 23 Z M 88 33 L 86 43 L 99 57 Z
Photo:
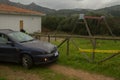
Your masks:
M 106 77 L 103 75 L 91 74 L 82 70 L 76 70 L 61 65 L 51 65 L 49 68 L 65 76 L 77 77 L 78 80 L 115 80 L 114 78 Z M 8 80 L 42 80 L 42 78 L 40 78 L 40 76 L 38 76 L 37 74 L 26 74 L 23 71 L 16 72 L 11 70 L 9 67 L 0 65 L 0 76 L 2 76 L 1 72 L 5 72 L 5 75 L 9 75 L 7 76 Z

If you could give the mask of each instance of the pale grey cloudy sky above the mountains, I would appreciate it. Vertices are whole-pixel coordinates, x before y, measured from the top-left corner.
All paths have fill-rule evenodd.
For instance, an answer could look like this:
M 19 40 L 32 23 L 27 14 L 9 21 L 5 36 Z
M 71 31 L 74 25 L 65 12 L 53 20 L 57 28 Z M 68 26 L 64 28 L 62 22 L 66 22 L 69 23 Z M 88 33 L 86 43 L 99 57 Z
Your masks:
M 13 2 L 20 2 L 23 4 L 30 4 L 34 2 L 40 6 L 51 9 L 98 9 L 108 7 L 111 5 L 120 5 L 120 0 L 10 0 Z

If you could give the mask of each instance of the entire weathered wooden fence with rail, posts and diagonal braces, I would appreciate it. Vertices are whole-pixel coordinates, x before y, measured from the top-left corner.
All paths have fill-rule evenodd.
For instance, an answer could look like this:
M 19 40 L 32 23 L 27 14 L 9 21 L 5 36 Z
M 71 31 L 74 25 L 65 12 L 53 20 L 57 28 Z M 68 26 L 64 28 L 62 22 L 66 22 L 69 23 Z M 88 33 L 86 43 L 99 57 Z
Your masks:
M 94 59 L 95 59 L 95 52 L 96 52 L 96 40 L 114 40 L 114 41 L 118 41 L 120 40 L 120 37 L 106 37 L 106 36 L 82 36 L 82 35 L 63 35 L 63 34 L 56 34 L 56 35 L 50 35 L 50 34 L 34 34 L 32 35 L 34 36 L 35 38 L 41 40 L 42 37 L 45 37 L 47 39 L 48 42 L 51 42 L 51 39 L 52 40 L 57 40 L 59 38 L 62 38 L 62 42 L 57 46 L 58 48 L 61 47 L 61 45 L 65 42 L 67 42 L 67 50 L 66 50 L 66 54 L 69 56 L 69 45 L 70 45 L 70 39 L 71 38 L 83 38 L 83 39 L 89 39 L 91 40 L 91 44 L 93 46 L 93 49 L 91 50 L 92 52 L 92 60 L 88 59 L 88 57 L 85 56 L 85 58 L 89 61 L 89 62 L 94 62 Z M 75 44 L 73 41 L 72 43 L 74 44 L 74 46 L 80 50 L 80 48 L 78 47 L 77 44 Z M 85 50 L 84 50 L 85 51 Z M 101 62 L 104 62 L 114 56 L 117 56 L 118 54 L 120 54 L 119 52 L 120 50 L 118 50 L 118 53 L 115 53 L 101 61 L 99 61 L 98 63 L 101 63 Z M 85 55 L 85 54 L 84 54 Z

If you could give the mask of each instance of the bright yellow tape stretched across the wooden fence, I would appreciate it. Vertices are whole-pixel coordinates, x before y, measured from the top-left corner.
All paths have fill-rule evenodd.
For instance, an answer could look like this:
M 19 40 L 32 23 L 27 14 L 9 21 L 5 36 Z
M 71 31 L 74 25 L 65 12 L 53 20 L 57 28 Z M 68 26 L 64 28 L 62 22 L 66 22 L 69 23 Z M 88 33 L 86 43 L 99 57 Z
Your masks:
M 95 52 L 95 53 L 120 53 L 120 50 L 98 50 L 98 49 L 81 49 L 79 48 L 79 51 L 80 52 L 88 52 L 88 53 L 91 53 L 91 52 Z

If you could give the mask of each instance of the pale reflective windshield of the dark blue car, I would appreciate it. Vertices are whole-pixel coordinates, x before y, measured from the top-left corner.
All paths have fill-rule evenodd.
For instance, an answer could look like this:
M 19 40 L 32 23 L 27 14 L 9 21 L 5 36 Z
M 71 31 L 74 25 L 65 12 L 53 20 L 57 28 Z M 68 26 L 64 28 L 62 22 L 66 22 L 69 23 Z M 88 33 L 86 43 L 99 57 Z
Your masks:
M 12 37 L 14 40 L 21 42 L 21 43 L 34 40 L 34 38 L 32 38 L 31 36 L 25 33 L 22 33 L 22 32 L 13 32 L 8 35 Z

